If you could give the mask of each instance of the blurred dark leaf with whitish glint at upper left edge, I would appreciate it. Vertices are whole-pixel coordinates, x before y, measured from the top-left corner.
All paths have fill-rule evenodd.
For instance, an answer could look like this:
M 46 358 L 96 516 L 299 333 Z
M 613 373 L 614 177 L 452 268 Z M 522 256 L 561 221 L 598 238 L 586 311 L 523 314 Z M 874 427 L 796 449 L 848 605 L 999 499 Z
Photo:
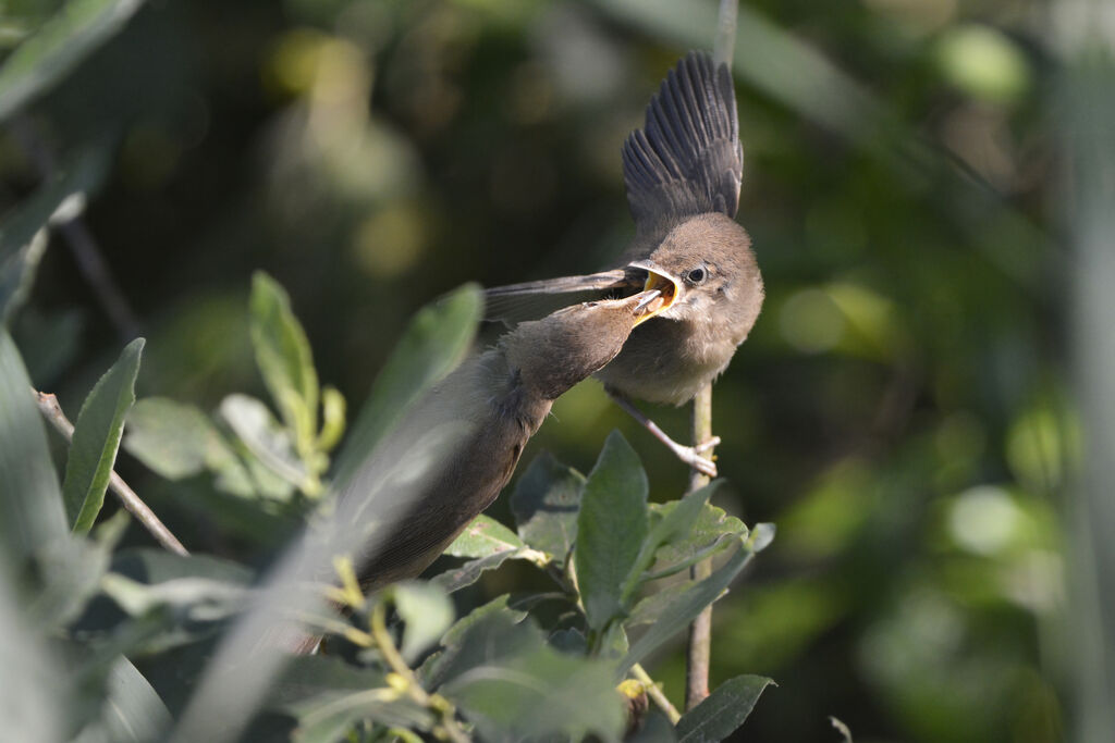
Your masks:
M 47 247 L 48 224 L 72 216 L 84 196 L 104 177 L 105 148 L 83 151 L 50 183 L 41 186 L 0 223 L 0 317 L 8 322 L 22 304 Z M 52 339 L 56 340 L 56 339 Z

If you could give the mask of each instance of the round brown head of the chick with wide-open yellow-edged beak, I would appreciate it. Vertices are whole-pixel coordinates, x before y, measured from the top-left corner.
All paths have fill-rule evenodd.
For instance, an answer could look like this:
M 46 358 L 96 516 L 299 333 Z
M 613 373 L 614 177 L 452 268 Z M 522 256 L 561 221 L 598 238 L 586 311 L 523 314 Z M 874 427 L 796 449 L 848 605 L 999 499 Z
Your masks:
M 763 277 L 750 245 L 730 217 L 701 214 L 667 233 L 648 260 L 631 267 L 649 272 L 647 289 L 673 292 L 662 320 L 699 325 L 736 346 L 763 306 Z

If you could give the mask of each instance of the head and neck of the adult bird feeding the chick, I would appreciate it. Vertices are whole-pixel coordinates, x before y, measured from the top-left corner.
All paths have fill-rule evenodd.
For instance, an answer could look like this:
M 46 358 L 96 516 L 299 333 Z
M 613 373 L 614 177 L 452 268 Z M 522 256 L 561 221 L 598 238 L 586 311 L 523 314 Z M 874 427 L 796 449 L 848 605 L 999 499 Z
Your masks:
M 670 306 L 658 290 L 565 307 L 521 323 L 501 345 L 523 390 L 555 400 L 615 358 L 631 330 Z

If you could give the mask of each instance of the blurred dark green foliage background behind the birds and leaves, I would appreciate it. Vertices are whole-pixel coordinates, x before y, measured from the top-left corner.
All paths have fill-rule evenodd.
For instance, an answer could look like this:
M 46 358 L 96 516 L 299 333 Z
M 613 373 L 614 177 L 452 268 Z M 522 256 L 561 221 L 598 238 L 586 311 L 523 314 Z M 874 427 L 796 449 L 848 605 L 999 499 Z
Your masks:
M 59 3 L 10 4 L 9 43 Z M 710 48 L 715 11 L 146 6 L 0 134 L 4 206 L 51 159 L 99 175 L 83 234 L 110 277 L 54 238 L 14 329 L 32 379 L 72 417 L 143 334 L 140 397 L 211 409 L 262 393 L 246 330 L 262 268 L 355 414 L 420 305 L 622 250 L 620 144 L 675 61 Z M 717 604 L 712 682 L 778 683 L 750 740 L 838 740 L 828 715 L 856 741 L 1067 734 L 1059 515 L 1080 436 L 1048 16 L 1035 0 L 740 9 L 739 221 L 767 301 L 716 385 L 718 505 L 778 536 Z M 687 436 L 686 409 L 647 410 Z M 588 471 L 613 428 L 652 499 L 677 498 L 685 468 L 594 381 L 555 405 L 524 466 L 546 449 Z M 118 468 L 192 548 L 261 564 L 288 532 L 206 477 Z M 536 579 L 507 566 L 462 609 Z M 650 669 L 680 702 L 680 645 Z

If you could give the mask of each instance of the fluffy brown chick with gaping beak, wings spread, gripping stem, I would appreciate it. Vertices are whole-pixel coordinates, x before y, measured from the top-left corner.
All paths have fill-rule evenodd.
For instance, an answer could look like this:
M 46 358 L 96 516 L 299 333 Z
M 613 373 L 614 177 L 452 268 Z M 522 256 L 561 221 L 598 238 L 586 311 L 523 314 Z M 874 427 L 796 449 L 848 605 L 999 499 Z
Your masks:
M 682 461 L 710 476 L 700 453 L 667 437 L 630 402 L 680 405 L 718 377 L 763 306 L 763 277 L 750 238 L 735 222 L 744 150 L 731 74 L 690 52 L 647 107 L 642 129 L 623 144 L 623 177 L 636 236 L 617 268 L 487 290 L 488 316 L 514 319 L 540 295 L 622 294 L 653 287 L 671 300 L 597 372 L 608 392 Z M 524 300 L 526 301 L 524 303 Z

